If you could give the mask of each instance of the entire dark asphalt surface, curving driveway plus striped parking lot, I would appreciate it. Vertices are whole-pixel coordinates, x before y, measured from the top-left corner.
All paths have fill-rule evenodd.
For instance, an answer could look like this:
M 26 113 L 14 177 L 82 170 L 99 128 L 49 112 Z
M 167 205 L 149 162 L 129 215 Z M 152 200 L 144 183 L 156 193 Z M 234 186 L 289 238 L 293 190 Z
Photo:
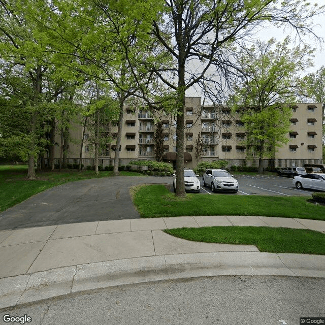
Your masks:
M 237 174 L 240 189 L 229 195 L 307 196 L 312 190 L 298 190 L 292 179 L 276 175 Z M 78 222 L 140 218 L 129 194 L 137 184 L 169 184 L 172 177 L 117 176 L 94 178 L 53 187 L 0 213 L 0 231 Z M 202 179 L 201 179 L 202 184 Z M 202 187 L 201 193 L 212 193 Z

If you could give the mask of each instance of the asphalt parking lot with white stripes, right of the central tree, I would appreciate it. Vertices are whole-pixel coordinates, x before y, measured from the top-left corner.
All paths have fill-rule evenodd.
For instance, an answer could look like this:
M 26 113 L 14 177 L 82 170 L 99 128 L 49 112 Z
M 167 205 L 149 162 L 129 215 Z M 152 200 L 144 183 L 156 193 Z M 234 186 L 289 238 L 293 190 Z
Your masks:
M 234 177 L 238 180 L 239 191 L 237 193 L 228 193 L 229 195 L 264 195 L 264 196 L 283 196 L 283 197 L 311 197 L 315 190 L 297 189 L 293 186 L 293 179 L 272 175 L 244 175 L 236 174 Z M 214 194 L 210 187 L 202 187 L 201 193 Z

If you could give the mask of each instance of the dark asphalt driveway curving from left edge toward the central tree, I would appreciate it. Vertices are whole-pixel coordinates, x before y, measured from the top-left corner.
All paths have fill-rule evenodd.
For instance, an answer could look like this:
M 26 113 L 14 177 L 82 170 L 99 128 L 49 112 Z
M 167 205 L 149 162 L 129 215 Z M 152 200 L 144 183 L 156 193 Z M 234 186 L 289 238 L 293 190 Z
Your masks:
M 0 213 L 0 231 L 56 224 L 139 218 L 129 194 L 137 184 L 172 184 L 171 177 L 105 177 L 53 187 Z

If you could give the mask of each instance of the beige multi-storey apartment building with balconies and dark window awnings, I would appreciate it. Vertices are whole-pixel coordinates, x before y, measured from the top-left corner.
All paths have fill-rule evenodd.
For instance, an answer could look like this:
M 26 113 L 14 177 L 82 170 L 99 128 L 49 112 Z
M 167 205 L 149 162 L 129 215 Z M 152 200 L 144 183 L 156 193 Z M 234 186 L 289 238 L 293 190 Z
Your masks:
M 274 159 L 321 159 L 322 158 L 322 105 L 296 104 L 290 118 L 288 143 L 282 147 L 272 148 Z M 201 135 L 203 147 L 202 160 L 246 159 L 247 132 L 241 121 L 242 112 L 231 112 L 229 108 L 216 109 L 213 106 L 201 106 L 200 97 L 185 99 L 184 122 L 184 166 L 193 168 L 195 159 L 195 142 Z M 164 127 L 164 160 L 176 164 L 176 119 L 164 111 L 151 112 L 145 108 L 133 111 L 125 108 L 119 158 L 154 159 L 155 121 L 161 120 Z M 77 124 L 76 124 L 77 125 Z M 80 125 L 70 130 L 76 139 L 70 144 L 69 158 L 78 158 L 82 130 Z M 102 137 L 110 143 L 100 152 L 100 158 L 114 158 L 116 148 L 117 123 L 103 125 Z M 82 157 L 93 158 L 93 151 L 88 143 L 89 132 L 86 131 Z M 59 157 L 56 148 L 56 157 Z

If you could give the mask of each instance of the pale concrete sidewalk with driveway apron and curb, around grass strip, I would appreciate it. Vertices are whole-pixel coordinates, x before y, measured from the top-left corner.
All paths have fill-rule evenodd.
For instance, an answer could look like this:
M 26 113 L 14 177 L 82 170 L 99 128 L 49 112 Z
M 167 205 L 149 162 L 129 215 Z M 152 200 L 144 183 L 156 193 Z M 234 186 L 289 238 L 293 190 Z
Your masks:
M 0 232 L 0 308 L 113 285 L 213 275 L 325 277 L 325 256 L 191 242 L 161 230 L 213 225 L 311 229 L 325 221 L 195 216 L 85 222 Z

